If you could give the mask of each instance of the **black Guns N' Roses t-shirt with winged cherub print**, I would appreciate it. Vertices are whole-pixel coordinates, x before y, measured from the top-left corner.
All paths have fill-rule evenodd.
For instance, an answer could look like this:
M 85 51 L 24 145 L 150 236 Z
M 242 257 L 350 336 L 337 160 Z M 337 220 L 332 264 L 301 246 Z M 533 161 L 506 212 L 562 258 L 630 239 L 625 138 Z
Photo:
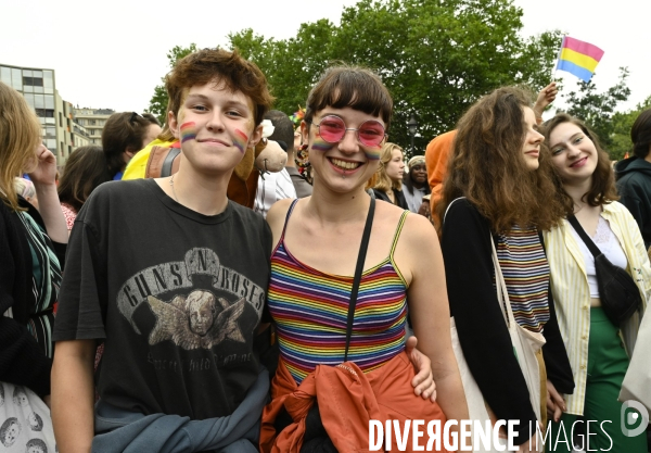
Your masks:
M 105 339 L 100 398 L 128 411 L 230 415 L 256 380 L 271 231 L 229 202 L 215 216 L 153 179 L 106 183 L 71 235 L 54 340 Z

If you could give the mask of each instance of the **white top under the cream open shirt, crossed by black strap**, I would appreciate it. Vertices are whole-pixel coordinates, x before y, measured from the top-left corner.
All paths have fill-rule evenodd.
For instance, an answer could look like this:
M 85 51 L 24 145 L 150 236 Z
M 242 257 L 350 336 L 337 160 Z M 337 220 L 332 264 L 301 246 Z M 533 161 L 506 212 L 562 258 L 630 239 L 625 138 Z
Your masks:
M 574 228 L 572 228 L 572 235 L 576 242 L 578 243 L 578 248 L 584 255 L 586 274 L 588 276 L 588 287 L 590 288 L 590 298 L 599 298 L 599 286 L 597 285 L 597 269 L 595 268 L 595 256 L 590 253 L 588 246 L 580 239 L 578 234 Z M 589 235 L 588 235 L 589 236 Z M 624 249 L 622 249 L 622 244 L 613 234 L 613 230 L 610 227 L 610 224 L 605 218 L 601 215 L 599 216 L 599 223 L 597 224 L 597 232 L 595 232 L 593 237 L 590 237 L 592 242 L 601 250 L 601 253 L 605 255 L 608 261 L 613 263 L 613 265 L 623 268 L 626 270 L 628 266 L 628 260 L 626 260 L 626 254 L 624 253 Z

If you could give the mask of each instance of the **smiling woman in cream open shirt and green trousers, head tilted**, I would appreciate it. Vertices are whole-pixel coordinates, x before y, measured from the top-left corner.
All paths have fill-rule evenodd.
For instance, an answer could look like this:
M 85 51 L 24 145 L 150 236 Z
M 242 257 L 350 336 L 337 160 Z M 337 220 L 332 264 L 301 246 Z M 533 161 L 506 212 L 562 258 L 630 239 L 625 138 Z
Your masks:
M 567 218 L 545 232 L 545 242 L 553 301 L 576 382 L 574 394 L 567 395 L 561 407 L 564 413 L 554 421 L 566 429 L 579 417 L 597 420 L 599 425 L 595 426 L 599 428 L 586 426 L 595 450 L 646 453 L 643 432 L 635 437 L 622 432 L 622 403 L 617 401 L 651 297 L 651 266 L 644 242 L 633 215 L 617 202 L 608 153 L 586 125 L 560 113 L 545 124 L 544 133 L 559 176 L 558 199 L 566 205 Z M 621 324 L 605 314 L 595 257 L 571 224 L 574 221 L 580 227 L 577 229 L 583 229 L 613 265 L 626 269 L 637 285 L 642 303 Z M 551 428 L 556 439 L 560 426 L 554 423 Z M 566 444 L 559 449 L 560 444 L 547 451 L 572 451 Z

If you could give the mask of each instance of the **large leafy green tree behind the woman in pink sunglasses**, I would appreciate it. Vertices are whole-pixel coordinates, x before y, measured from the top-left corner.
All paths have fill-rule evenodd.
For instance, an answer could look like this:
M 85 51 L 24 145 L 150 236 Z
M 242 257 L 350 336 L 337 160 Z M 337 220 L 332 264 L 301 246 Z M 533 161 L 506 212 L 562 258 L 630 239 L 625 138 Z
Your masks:
M 266 74 L 276 109 L 305 106 L 311 85 L 333 62 L 376 71 L 391 90 L 391 141 L 409 149 L 407 122 L 419 124 L 416 154 L 450 130 L 482 95 L 503 85 L 538 90 L 550 80 L 559 32 L 523 39 L 522 10 L 512 0 L 361 0 L 344 9 L 341 25 L 303 24 L 295 38 L 265 39 L 246 29 L 231 48 Z

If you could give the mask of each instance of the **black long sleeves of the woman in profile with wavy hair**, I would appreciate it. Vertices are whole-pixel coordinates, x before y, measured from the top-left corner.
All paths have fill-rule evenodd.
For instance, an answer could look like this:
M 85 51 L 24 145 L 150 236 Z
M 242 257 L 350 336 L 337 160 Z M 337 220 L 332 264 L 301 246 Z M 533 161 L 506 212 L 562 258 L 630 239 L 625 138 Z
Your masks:
M 536 415 L 529 392 L 493 286 L 495 268 L 487 218 L 465 199 L 452 203 L 446 214 L 442 251 L 450 303 L 459 342 L 484 399 L 498 419 L 519 420 L 516 444 L 528 440 Z M 553 303 L 544 334 L 554 361 L 548 378 L 562 393 L 574 389 L 572 368 L 558 327 Z M 544 348 L 544 349 L 545 349 Z

